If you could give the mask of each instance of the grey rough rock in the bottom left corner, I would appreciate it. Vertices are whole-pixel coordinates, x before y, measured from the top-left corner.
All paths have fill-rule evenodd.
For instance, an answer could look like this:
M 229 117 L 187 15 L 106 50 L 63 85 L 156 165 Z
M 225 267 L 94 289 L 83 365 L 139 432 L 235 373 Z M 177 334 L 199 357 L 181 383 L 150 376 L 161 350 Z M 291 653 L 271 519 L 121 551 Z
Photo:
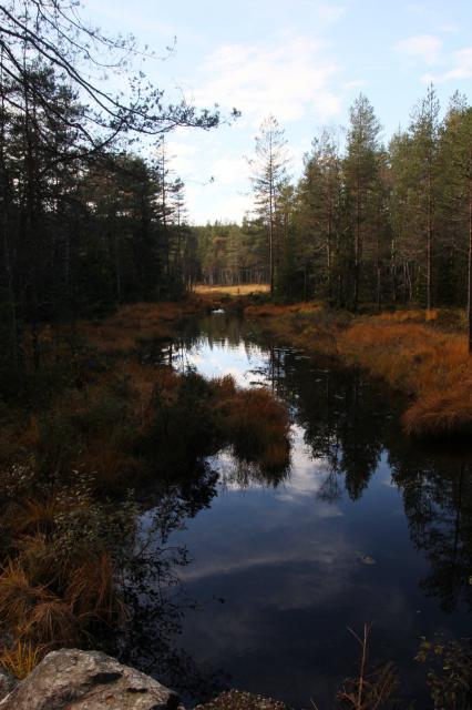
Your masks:
M 178 696 L 99 651 L 52 651 L 0 710 L 177 710 Z M 182 709 L 181 709 L 182 710 Z

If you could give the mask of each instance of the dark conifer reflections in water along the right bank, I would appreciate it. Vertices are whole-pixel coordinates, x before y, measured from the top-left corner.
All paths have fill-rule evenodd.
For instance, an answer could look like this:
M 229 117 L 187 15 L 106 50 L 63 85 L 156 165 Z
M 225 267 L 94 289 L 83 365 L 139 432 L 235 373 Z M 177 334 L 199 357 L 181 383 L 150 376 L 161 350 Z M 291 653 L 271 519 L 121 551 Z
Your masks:
M 288 400 L 305 430 L 314 459 L 328 469 L 318 497 L 338 500 L 343 490 L 357 500 L 382 454 L 402 493 L 413 544 L 431 574 L 421 581 L 444 611 L 472 606 L 472 457 L 433 450 L 408 439 L 400 426 L 402 402 L 359 369 L 291 349 L 269 348 L 267 376 Z

